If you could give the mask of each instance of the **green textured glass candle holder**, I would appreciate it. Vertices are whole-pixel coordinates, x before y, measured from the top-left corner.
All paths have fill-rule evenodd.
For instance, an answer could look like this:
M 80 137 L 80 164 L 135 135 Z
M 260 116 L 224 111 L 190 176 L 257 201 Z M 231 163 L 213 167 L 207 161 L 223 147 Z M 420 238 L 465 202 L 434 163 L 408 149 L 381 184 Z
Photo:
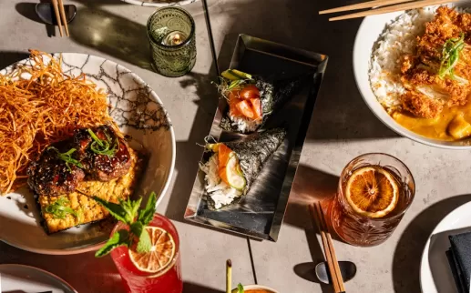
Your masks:
M 195 22 L 179 7 L 164 7 L 148 18 L 152 61 L 162 76 L 189 73 L 196 63 Z

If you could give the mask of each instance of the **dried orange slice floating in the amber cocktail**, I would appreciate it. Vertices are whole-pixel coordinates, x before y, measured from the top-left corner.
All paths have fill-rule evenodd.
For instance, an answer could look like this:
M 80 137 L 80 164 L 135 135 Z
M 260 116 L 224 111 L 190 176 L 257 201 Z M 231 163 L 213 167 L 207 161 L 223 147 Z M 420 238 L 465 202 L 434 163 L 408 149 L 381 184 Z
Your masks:
M 384 217 L 394 210 L 399 184 L 382 167 L 361 167 L 353 171 L 345 188 L 345 197 L 355 212 L 366 217 Z

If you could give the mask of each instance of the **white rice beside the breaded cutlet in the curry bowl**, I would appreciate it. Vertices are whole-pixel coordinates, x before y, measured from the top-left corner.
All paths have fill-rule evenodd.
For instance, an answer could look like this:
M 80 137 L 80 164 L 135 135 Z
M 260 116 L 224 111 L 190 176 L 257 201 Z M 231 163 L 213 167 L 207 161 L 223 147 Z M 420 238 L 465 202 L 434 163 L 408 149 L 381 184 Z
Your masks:
M 409 10 L 386 25 L 374 45 L 370 63 L 370 83 L 374 95 L 386 109 L 399 106 L 404 94 L 401 83 L 401 61 L 414 54 L 417 35 L 424 34 L 425 23 L 434 19 L 436 6 Z

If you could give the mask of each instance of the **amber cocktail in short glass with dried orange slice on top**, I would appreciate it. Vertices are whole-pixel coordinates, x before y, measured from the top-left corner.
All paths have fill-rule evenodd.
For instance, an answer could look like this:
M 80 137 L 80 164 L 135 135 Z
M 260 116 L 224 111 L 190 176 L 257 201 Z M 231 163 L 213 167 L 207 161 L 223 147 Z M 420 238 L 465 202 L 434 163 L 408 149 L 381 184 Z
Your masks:
M 378 245 L 391 236 L 414 195 L 414 177 L 397 158 L 356 157 L 343 169 L 331 205 L 333 229 L 352 245 Z

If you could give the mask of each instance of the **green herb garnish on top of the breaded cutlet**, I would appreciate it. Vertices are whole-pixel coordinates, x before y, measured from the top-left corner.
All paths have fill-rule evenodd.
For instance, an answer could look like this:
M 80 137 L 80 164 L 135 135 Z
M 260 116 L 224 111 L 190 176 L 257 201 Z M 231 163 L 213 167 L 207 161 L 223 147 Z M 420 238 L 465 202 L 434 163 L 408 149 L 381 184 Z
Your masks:
M 465 34 L 461 33 L 460 37 L 452 37 L 446 40 L 442 49 L 442 58 L 438 76 L 444 78 L 449 75 L 455 78 L 455 66 L 459 61 L 459 54 L 465 47 Z

